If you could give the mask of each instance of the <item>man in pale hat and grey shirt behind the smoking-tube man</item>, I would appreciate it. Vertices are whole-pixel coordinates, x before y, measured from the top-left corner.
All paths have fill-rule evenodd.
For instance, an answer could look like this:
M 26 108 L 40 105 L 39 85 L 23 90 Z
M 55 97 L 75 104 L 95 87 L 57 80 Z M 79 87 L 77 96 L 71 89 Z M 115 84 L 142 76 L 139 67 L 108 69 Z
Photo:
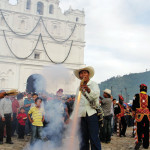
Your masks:
M 101 100 L 101 107 L 104 112 L 104 119 L 103 119 L 104 126 L 100 130 L 100 139 L 102 142 L 110 143 L 111 141 L 111 119 L 112 119 L 111 90 L 105 89 L 103 91 L 103 96 L 104 96 L 104 99 Z

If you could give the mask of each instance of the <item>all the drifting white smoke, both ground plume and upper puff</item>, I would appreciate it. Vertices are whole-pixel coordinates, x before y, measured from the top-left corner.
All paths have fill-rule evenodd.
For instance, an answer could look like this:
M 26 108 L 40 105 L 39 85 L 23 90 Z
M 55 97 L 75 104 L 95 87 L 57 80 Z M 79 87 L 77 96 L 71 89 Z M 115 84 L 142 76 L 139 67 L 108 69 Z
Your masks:
M 69 70 L 62 65 L 46 67 L 42 70 L 41 75 L 45 79 L 44 86 L 48 93 L 55 94 L 59 88 L 65 91 L 68 84 L 72 83 Z M 42 79 L 39 76 L 34 76 L 34 79 L 36 91 L 41 91 Z M 42 140 L 37 141 L 33 147 L 28 145 L 24 150 L 78 150 L 78 134 L 77 137 L 71 137 L 72 124 L 64 124 L 64 117 L 64 103 L 61 100 L 47 101 L 45 103 L 45 120 L 48 124 L 43 128 Z M 72 145 L 73 147 L 70 148 Z

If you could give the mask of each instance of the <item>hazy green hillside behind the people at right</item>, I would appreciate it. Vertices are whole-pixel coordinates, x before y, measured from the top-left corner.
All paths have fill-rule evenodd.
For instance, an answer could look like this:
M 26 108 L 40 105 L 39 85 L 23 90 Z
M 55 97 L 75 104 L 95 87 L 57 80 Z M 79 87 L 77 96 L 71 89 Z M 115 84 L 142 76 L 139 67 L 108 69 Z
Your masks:
M 133 99 L 133 96 L 139 92 L 139 85 L 144 83 L 148 86 L 148 94 L 150 94 L 150 71 L 142 73 L 133 73 L 122 77 L 112 77 L 99 84 L 102 91 L 105 88 L 112 90 L 114 98 L 118 99 L 118 94 L 122 94 L 125 101 Z

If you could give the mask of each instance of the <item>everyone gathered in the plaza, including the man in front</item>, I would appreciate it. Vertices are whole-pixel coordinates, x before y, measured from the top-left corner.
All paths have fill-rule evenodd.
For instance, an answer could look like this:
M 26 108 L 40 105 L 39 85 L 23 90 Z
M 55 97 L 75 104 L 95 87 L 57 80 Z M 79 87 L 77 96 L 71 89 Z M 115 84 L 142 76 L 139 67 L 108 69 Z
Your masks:
M 89 150 L 90 146 L 91 150 L 101 150 L 101 142 L 109 144 L 114 134 L 126 137 L 127 127 L 134 125 L 134 149 L 138 150 L 142 144 L 143 148 L 148 149 L 150 97 L 147 95 L 147 86 L 140 85 L 140 93 L 135 95 L 131 105 L 124 102 L 122 95 L 118 95 L 117 99 L 113 98 L 110 89 L 105 89 L 103 96 L 100 96 L 97 83 L 90 80 L 94 76 L 92 67 L 75 70 L 74 74 L 82 81 L 77 89 L 77 93 L 82 93 L 78 110 L 80 150 Z M 18 139 L 24 139 L 24 135 L 31 136 L 30 143 L 33 145 L 37 139 L 42 139 L 43 128 L 56 119 L 47 113 L 51 108 L 49 105 L 59 104 L 57 113 L 59 111 L 62 114 L 63 120 L 60 124 L 69 124 L 77 103 L 75 95 L 64 95 L 63 89 L 59 89 L 55 95 L 24 92 L 9 96 L 1 92 L 0 98 L 0 144 L 3 144 L 4 137 L 6 143 L 13 144 L 11 137 L 18 134 Z M 101 118 L 98 116 L 98 109 L 101 111 Z M 58 137 L 61 145 L 63 136 L 57 135 L 57 140 Z M 51 140 L 53 137 L 49 135 L 47 139 Z

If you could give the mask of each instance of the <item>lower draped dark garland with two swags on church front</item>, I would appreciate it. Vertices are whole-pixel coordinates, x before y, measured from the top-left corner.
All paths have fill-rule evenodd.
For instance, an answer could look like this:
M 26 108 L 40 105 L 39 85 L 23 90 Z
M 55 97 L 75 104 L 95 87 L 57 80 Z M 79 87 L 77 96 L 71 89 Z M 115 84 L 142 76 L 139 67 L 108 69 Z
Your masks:
M 70 54 L 71 49 L 72 49 L 72 46 L 73 46 L 73 40 L 72 40 L 72 41 L 71 41 L 71 44 L 70 44 L 69 52 L 68 52 L 67 56 L 65 57 L 65 59 L 64 59 L 63 61 L 61 61 L 61 62 L 55 62 L 55 61 L 53 61 L 53 60 L 50 58 L 50 56 L 48 55 L 47 50 L 46 50 L 45 45 L 44 45 L 44 41 L 43 41 L 42 34 L 40 33 L 39 36 L 38 36 L 38 40 L 37 40 L 37 42 L 36 42 L 36 45 L 35 45 L 34 49 L 32 50 L 31 54 L 29 54 L 27 57 L 18 57 L 18 56 L 13 52 L 13 50 L 10 48 L 4 30 L 3 30 L 3 35 L 4 35 L 4 39 L 5 39 L 5 41 L 6 41 L 6 44 L 7 44 L 8 48 L 9 48 L 9 50 L 11 51 L 11 53 L 12 53 L 17 59 L 27 59 L 27 58 L 29 58 L 29 57 L 33 54 L 33 52 L 35 51 L 35 49 L 36 49 L 36 47 L 37 47 L 37 45 L 38 45 L 38 42 L 39 42 L 39 40 L 41 39 L 42 45 L 43 45 L 43 48 L 44 48 L 44 51 L 45 51 L 47 57 L 49 58 L 49 60 L 50 60 L 52 63 L 55 63 L 55 64 L 63 64 L 63 63 L 67 60 L 67 58 L 69 57 L 69 54 Z

